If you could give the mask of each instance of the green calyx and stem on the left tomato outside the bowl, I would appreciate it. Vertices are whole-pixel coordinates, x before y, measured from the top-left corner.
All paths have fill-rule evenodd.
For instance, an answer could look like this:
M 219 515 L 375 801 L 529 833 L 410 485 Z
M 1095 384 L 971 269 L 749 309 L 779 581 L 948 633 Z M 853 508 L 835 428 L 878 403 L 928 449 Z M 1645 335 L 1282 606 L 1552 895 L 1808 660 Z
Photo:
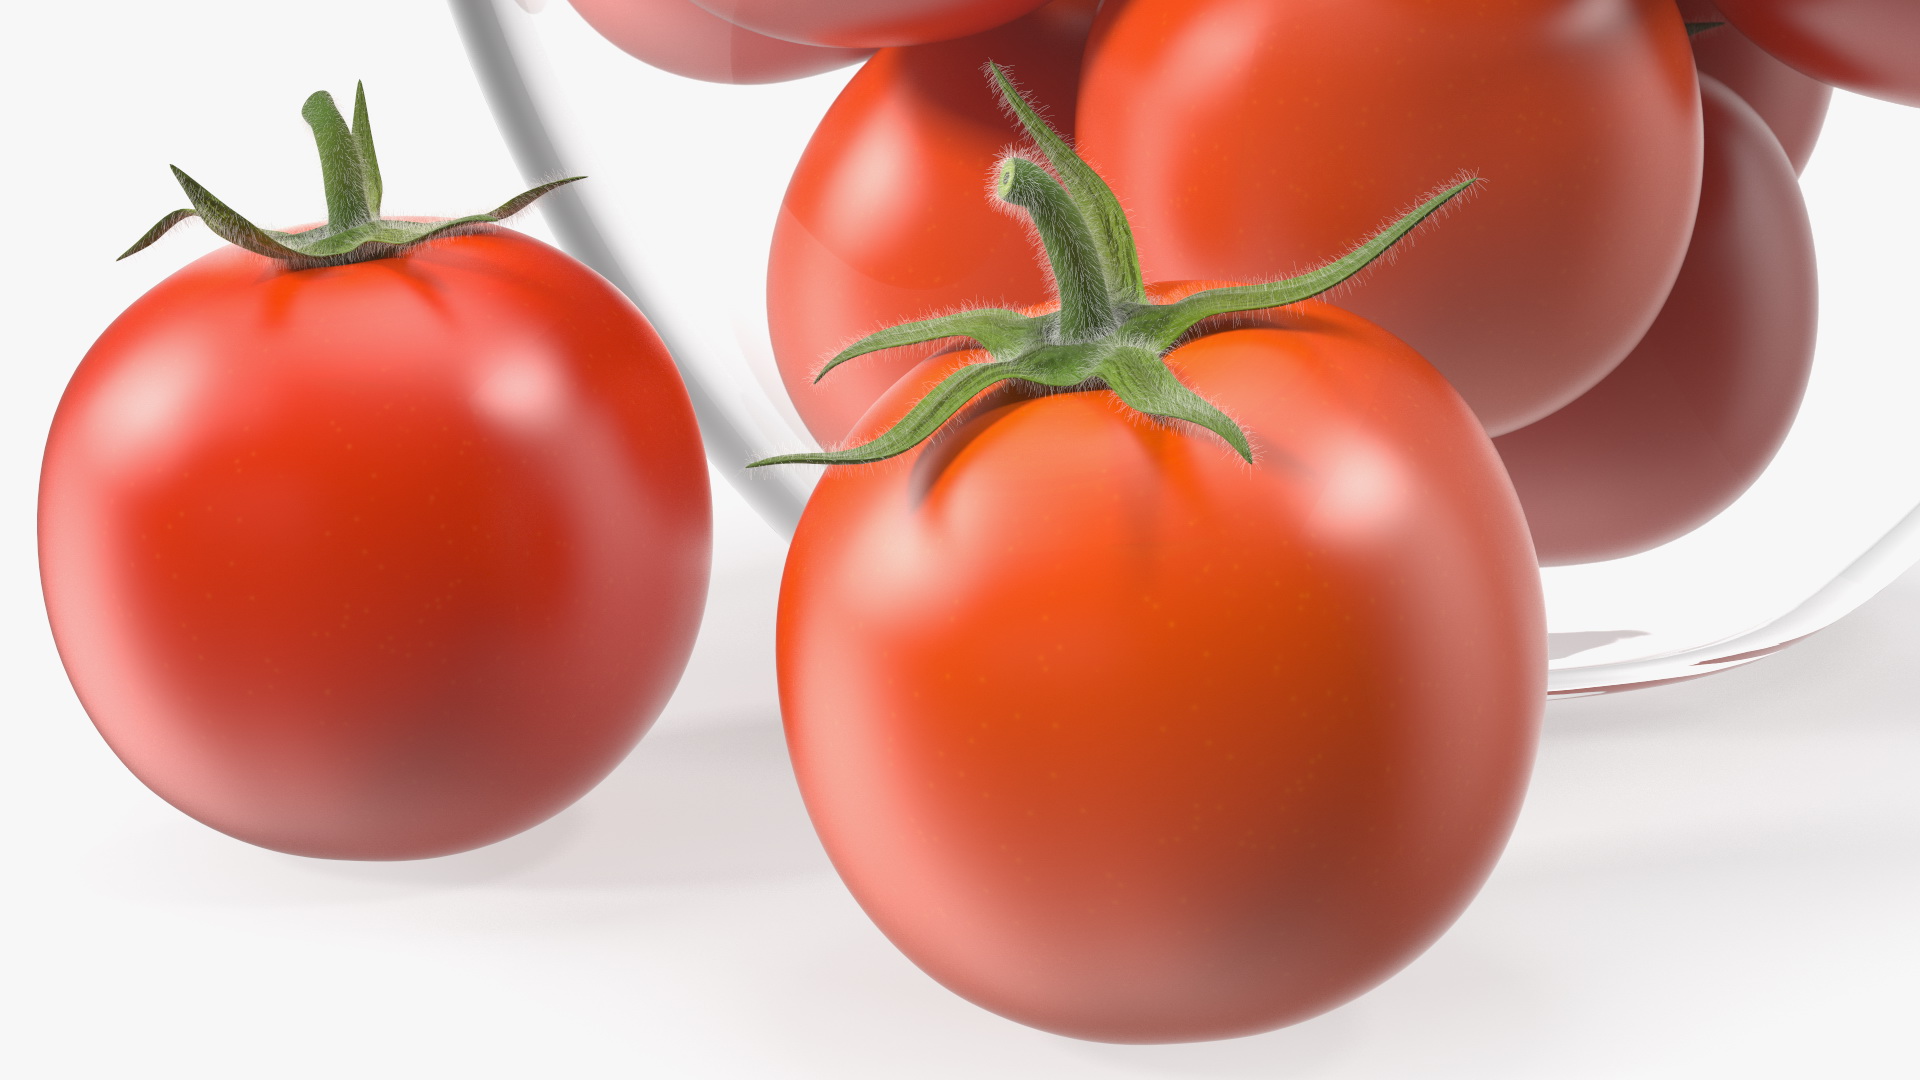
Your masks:
M 305 233 L 261 229 L 234 213 L 225 202 L 213 198 L 213 192 L 200 186 L 200 183 L 179 167 L 169 165 L 173 177 L 180 181 L 180 188 L 186 190 L 186 200 L 194 204 L 192 209 L 175 209 L 161 217 L 144 236 L 134 240 L 132 248 L 121 252 L 119 258 L 125 259 L 144 250 L 180 221 L 200 217 L 207 223 L 207 229 L 213 229 L 228 244 L 267 256 L 269 259 L 280 259 L 292 269 L 365 263 L 397 256 L 434 236 L 513 217 L 553 188 L 582 179 L 566 177 L 540 184 L 503 202 L 490 213 L 468 213 L 451 221 L 396 221 L 380 217 L 380 160 L 372 152 L 372 127 L 367 123 L 367 86 L 361 85 L 353 90 L 351 127 L 348 127 L 346 117 L 340 115 L 340 106 L 334 104 L 334 96 L 326 90 L 309 96 L 307 104 L 300 108 L 300 115 L 313 129 L 313 142 L 321 150 L 321 179 L 326 184 L 326 225 L 307 229 Z

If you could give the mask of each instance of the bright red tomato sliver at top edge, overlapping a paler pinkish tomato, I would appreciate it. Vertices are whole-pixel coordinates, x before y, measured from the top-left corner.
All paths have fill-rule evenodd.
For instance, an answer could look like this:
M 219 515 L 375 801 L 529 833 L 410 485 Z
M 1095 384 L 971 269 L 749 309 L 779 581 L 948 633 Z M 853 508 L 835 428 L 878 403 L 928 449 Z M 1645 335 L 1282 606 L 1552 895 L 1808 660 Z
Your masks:
M 876 48 L 975 35 L 1046 0 L 695 0 L 714 15 L 804 44 Z

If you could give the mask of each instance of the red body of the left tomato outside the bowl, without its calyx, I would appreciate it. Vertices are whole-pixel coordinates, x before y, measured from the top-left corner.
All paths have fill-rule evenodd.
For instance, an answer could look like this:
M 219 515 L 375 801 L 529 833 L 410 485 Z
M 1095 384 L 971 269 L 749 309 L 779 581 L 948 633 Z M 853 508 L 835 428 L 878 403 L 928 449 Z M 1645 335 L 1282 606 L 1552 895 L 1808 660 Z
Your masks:
M 194 261 L 81 361 L 40 475 L 54 638 L 113 751 L 336 859 L 488 844 L 599 782 L 680 678 L 708 530 L 659 338 L 503 229 Z

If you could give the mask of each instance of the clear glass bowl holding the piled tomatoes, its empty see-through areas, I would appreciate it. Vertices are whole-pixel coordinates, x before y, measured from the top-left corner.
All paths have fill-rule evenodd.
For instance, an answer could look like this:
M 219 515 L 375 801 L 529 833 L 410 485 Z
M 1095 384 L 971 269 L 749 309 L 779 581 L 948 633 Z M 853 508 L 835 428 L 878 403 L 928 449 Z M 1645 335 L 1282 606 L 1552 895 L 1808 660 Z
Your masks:
M 791 532 L 818 475 L 741 463 L 810 448 L 766 332 L 787 175 L 851 77 L 697 83 L 632 60 L 564 2 L 451 0 L 501 133 L 578 258 L 626 288 L 680 359 L 708 454 Z M 1910 329 L 1920 110 L 1836 92 L 1803 175 L 1820 346 L 1801 415 L 1732 507 L 1651 552 L 1542 571 L 1549 692 L 1695 678 L 1834 623 L 1920 561 L 1920 348 Z

